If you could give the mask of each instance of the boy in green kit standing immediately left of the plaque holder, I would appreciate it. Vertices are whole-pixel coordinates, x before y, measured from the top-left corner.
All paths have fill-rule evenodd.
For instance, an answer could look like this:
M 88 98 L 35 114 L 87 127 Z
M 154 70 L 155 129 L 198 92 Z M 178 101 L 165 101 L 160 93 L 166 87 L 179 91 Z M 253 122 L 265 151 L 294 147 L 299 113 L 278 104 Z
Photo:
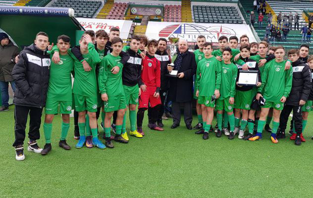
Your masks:
M 234 127 L 235 118 L 233 113 L 233 104 L 236 88 L 237 78 L 237 66 L 231 63 L 230 59 L 232 50 L 230 48 L 223 49 L 223 61 L 221 64 L 221 88 L 220 98 L 215 102 L 215 108 L 217 110 L 216 119 L 218 130 L 216 136 L 221 136 L 222 130 L 222 119 L 223 110 L 227 112 L 227 117 L 230 125 L 230 133 L 228 139 L 232 140 L 235 138 Z M 225 133 L 225 132 L 224 132 Z

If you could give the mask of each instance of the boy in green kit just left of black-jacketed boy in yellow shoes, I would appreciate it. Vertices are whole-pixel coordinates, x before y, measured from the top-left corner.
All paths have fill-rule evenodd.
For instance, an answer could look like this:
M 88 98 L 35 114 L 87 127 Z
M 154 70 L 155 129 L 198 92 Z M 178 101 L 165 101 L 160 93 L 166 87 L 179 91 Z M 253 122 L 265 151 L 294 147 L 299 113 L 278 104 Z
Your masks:
M 99 91 L 101 98 L 104 101 L 104 133 L 105 145 L 108 148 L 113 148 L 113 143 L 110 141 L 110 125 L 111 117 L 114 111 L 117 111 L 116 118 L 116 134 L 114 140 L 116 142 L 128 143 L 121 136 L 123 117 L 126 108 L 126 99 L 122 84 L 122 68 L 121 57 L 119 56 L 122 51 L 123 41 L 115 37 L 111 41 L 112 52 L 107 54 L 101 62 L 99 70 Z

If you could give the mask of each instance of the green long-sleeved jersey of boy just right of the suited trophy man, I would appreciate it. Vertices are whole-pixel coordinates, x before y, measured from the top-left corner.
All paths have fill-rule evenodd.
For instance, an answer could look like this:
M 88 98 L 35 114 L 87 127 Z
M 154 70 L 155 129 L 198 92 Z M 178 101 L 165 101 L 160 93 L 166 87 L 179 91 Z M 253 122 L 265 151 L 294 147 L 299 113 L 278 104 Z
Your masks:
M 199 90 L 199 96 L 212 96 L 215 90 L 220 89 L 221 62 L 215 56 L 200 60 L 197 67 L 197 79 L 196 90 Z

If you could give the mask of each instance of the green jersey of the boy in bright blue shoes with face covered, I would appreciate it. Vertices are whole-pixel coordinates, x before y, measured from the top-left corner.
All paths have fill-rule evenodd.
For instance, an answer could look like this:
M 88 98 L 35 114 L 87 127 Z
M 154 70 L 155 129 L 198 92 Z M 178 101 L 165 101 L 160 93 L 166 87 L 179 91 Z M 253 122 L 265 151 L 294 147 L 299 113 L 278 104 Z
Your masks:
M 97 97 L 96 65 L 101 62 L 101 59 L 92 43 L 88 44 L 88 51 L 87 54 L 82 55 L 91 67 L 91 71 L 85 71 L 83 64 L 71 53 L 75 71 L 73 93 L 86 97 Z

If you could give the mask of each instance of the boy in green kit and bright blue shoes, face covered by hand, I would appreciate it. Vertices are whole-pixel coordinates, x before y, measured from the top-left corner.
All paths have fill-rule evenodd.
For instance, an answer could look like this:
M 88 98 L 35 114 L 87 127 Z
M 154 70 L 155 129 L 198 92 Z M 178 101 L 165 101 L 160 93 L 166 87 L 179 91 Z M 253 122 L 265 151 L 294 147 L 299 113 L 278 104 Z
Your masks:
M 82 148 L 86 143 L 86 147 L 105 148 L 104 144 L 98 139 L 97 125 L 97 79 L 96 65 L 101 61 L 100 56 L 95 49 L 92 39 L 89 35 L 84 34 L 80 41 L 80 52 L 84 59 L 88 62 L 89 68 L 85 68 L 83 64 L 73 55 L 75 79 L 73 83 L 73 94 L 75 110 L 78 112 L 78 127 L 80 138 L 76 144 L 76 148 Z M 86 110 L 89 116 L 89 125 L 91 128 L 91 136 L 86 137 Z

